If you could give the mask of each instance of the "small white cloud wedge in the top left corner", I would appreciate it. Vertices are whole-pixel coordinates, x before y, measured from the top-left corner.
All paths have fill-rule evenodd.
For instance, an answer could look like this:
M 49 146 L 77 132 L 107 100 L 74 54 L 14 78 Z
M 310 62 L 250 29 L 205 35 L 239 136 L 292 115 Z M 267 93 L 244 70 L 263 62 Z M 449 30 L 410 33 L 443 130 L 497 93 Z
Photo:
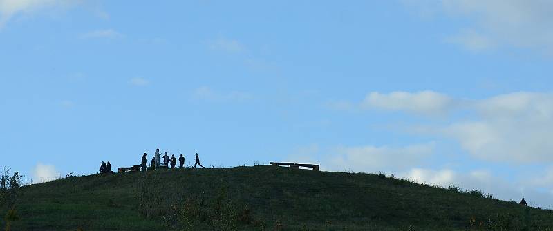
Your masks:
M 70 6 L 81 0 L 0 0 L 0 28 L 18 14 L 30 14 L 44 8 Z

